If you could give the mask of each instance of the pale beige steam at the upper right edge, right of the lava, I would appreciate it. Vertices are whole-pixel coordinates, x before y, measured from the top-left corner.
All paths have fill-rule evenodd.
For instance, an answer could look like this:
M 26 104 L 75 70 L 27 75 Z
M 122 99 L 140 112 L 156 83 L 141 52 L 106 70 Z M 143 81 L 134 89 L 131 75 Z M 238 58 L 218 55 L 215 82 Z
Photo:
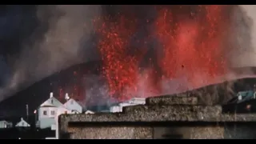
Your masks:
M 256 12 L 253 5 L 240 5 L 234 9 L 232 65 L 256 66 Z

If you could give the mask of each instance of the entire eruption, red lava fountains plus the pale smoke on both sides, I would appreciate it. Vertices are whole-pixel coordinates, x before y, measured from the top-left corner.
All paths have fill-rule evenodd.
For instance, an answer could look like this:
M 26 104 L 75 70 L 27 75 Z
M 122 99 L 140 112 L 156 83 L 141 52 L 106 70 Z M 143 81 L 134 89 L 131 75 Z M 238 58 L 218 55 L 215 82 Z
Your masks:
M 85 98 L 88 97 L 86 93 L 90 98 L 95 97 L 98 89 L 107 91 L 106 94 L 98 93 L 108 98 L 124 101 L 132 97 L 177 94 L 228 80 L 254 77 L 250 68 L 242 68 L 239 73 L 236 70 L 236 67 L 255 66 L 250 34 L 253 26 L 245 12 L 246 6 L 96 6 L 100 10 L 95 14 L 89 13 L 94 6 L 78 6 L 79 9 L 76 6 L 56 7 L 68 16 L 60 13 L 60 20 L 50 25 L 53 30 L 46 34 L 40 50 L 35 49 L 44 53 L 33 53 L 41 55 L 46 62 L 33 62 L 32 66 L 37 66 L 37 69 L 27 70 L 26 66 L 30 65 L 26 62 L 30 58 L 26 57 L 20 65 L 22 70 L 18 67 L 14 72 L 9 87 L 18 86 L 22 83 L 17 82 L 21 78 L 21 81 L 30 79 L 32 82 L 33 78 L 37 81 L 53 71 L 88 62 L 90 58 L 87 57 L 101 62 L 97 68 L 99 76 L 86 74 L 86 70 L 83 71 L 85 74 L 74 71 L 75 79 L 89 83 L 66 86 L 73 87 L 75 94 Z M 86 8 L 88 10 L 84 10 Z M 82 19 L 86 17 L 83 14 L 88 14 L 90 20 Z M 51 20 L 54 21 L 55 17 L 58 16 Z M 77 19 L 82 20 L 78 22 Z M 62 37 L 57 38 L 59 36 Z M 54 41 L 55 37 L 58 41 Z M 87 42 L 86 46 L 80 45 L 83 40 Z M 96 54 L 90 54 L 90 51 Z M 58 53 L 57 59 L 55 52 Z M 21 77 L 20 74 L 32 75 L 33 78 Z M 104 84 L 98 85 L 99 81 L 104 81 Z M 70 89 L 56 87 L 62 95 L 66 93 L 65 89 Z

